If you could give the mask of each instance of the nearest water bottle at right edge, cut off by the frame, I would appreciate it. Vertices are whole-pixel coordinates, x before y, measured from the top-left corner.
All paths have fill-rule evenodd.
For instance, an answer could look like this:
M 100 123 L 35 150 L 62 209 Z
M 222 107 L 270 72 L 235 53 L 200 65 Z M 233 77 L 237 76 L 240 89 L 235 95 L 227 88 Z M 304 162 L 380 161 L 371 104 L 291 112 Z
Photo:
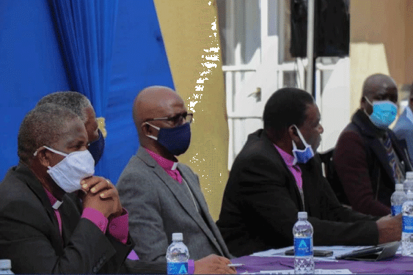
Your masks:
M 407 191 L 407 200 L 402 207 L 401 254 L 413 256 L 413 192 Z

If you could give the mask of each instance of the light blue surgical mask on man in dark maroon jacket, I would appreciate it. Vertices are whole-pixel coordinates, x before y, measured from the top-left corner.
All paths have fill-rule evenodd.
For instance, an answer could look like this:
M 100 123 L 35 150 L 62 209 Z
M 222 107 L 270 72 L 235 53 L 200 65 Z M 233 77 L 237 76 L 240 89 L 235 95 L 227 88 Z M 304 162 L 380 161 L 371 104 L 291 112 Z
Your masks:
M 387 129 L 396 119 L 397 105 L 390 100 L 378 100 L 372 103 L 366 96 L 364 98 L 373 107 L 373 112 L 369 115 L 372 123 L 381 129 Z

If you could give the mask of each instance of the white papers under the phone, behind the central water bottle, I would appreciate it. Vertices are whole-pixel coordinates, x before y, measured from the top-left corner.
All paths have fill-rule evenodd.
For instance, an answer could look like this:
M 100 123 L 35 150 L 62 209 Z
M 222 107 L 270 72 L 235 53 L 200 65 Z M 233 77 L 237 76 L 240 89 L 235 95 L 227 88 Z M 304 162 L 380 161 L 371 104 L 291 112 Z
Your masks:
M 353 250 L 359 250 L 362 248 L 368 248 L 369 246 L 346 246 L 346 245 L 334 245 L 334 246 L 315 246 L 313 250 L 332 250 L 332 256 L 329 257 L 314 257 L 314 261 L 337 261 L 336 256 L 352 252 Z M 286 256 L 286 250 L 293 249 L 293 246 L 288 246 L 287 248 L 271 249 L 262 252 L 256 252 L 251 254 L 251 256 L 259 257 L 288 257 L 292 258 L 294 256 Z

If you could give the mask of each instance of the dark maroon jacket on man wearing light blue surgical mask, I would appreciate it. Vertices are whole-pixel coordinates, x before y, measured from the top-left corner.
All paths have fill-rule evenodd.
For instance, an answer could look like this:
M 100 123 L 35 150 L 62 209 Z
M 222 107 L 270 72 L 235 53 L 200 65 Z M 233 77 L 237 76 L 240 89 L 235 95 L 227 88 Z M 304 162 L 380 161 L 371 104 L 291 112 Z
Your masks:
M 335 170 L 350 206 L 365 214 L 390 214 L 390 197 L 396 182 L 387 151 L 379 140 L 386 132 L 394 152 L 403 162 L 403 169 L 410 170 L 405 148 L 399 144 L 394 133 L 390 129 L 378 129 L 360 109 L 341 132 L 335 147 Z

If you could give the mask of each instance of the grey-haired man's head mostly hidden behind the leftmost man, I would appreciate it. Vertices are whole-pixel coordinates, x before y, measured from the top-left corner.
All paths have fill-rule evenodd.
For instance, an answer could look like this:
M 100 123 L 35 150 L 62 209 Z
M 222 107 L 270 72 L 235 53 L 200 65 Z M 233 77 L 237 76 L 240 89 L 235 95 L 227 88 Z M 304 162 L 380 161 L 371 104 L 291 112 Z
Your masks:
M 103 133 L 98 129 L 96 113 L 89 99 L 76 91 L 56 91 L 43 96 L 36 106 L 45 103 L 58 104 L 72 110 L 81 118 L 85 124 L 87 139 L 89 140 L 87 150 L 92 154 L 95 165 L 99 162 L 105 149 Z

